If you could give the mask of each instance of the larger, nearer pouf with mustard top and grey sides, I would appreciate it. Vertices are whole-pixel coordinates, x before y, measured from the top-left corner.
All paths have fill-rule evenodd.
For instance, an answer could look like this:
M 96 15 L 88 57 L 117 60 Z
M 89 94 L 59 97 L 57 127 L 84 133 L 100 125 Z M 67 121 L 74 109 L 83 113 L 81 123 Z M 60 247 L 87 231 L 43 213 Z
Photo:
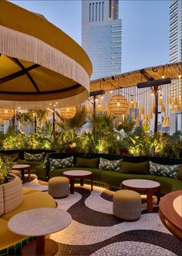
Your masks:
M 133 190 L 118 190 L 113 194 L 113 214 L 123 220 L 138 220 L 141 216 L 141 196 Z

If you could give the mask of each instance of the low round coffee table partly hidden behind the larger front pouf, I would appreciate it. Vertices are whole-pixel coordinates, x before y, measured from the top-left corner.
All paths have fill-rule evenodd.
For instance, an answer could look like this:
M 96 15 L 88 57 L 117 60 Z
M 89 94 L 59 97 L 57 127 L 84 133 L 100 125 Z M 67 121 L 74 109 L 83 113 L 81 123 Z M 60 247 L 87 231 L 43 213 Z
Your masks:
M 153 192 L 157 192 L 157 203 L 160 201 L 160 183 L 148 179 L 126 179 L 121 183 L 121 189 L 131 189 L 135 191 L 147 192 L 147 210 L 153 211 Z

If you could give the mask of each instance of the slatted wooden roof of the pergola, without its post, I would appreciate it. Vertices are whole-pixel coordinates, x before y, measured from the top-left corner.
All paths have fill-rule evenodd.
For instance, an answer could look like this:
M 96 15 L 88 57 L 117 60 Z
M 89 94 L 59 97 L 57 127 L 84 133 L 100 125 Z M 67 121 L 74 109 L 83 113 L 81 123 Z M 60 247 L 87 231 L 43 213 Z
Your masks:
M 90 91 L 94 90 L 114 90 L 119 87 L 133 87 L 137 83 L 144 82 L 150 79 L 153 80 L 170 77 L 171 79 L 177 78 L 182 75 L 182 62 L 169 63 L 156 67 L 147 67 L 142 70 L 134 70 L 127 73 L 121 73 L 113 77 L 104 77 L 90 82 Z

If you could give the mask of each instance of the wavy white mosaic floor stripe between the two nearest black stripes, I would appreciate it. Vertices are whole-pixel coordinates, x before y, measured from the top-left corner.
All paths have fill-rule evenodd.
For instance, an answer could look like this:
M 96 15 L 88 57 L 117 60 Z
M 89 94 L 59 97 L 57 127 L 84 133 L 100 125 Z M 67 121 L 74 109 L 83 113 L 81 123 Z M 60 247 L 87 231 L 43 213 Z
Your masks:
M 72 220 L 65 230 L 51 234 L 50 237 L 62 244 L 84 245 L 105 241 L 128 230 L 157 230 L 170 234 L 161 223 L 158 213 L 147 213 L 143 214 L 140 220 L 123 222 L 112 227 L 93 227 Z

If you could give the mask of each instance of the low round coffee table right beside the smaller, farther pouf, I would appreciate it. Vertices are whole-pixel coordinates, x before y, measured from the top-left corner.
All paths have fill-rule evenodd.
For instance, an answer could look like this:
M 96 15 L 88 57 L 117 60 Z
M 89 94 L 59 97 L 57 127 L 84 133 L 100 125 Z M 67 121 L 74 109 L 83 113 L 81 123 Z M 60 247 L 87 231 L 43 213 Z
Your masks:
M 70 193 L 74 194 L 74 179 L 80 179 L 80 185 L 83 186 L 83 179 L 89 178 L 91 183 L 91 191 L 93 191 L 93 173 L 83 170 L 72 170 L 62 172 L 62 176 L 69 178 Z

